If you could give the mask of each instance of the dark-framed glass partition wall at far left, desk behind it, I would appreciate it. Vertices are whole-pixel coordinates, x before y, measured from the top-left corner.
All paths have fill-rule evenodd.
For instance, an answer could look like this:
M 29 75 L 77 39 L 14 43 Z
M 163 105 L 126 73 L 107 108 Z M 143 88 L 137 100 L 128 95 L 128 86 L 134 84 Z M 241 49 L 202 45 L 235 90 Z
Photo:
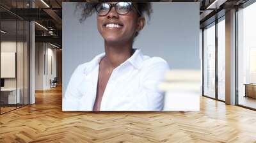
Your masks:
M 12 1 L 12 6 L 27 3 Z M 0 7 L 0 114 L 29 104 L 29 22 L 10 11 Z

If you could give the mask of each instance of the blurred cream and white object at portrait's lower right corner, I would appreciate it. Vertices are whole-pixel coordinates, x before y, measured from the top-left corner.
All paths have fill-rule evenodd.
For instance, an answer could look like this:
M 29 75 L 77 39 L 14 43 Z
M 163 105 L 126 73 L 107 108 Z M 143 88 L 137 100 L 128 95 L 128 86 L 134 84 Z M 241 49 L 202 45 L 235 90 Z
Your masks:
M 170 70 L 159 89 L 165 92 L 164 111 L 200 110 L 200 70 Z

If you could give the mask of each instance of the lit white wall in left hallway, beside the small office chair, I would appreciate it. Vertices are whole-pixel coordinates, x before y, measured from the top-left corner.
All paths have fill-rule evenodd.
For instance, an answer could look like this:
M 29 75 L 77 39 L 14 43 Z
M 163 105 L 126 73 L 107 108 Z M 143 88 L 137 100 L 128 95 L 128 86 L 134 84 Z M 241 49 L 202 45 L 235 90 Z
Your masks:
M 36 43 L 35 47 L 35 90 L 49 89 L 50 79 L 56 77 L 56 49 L 49 43 Z

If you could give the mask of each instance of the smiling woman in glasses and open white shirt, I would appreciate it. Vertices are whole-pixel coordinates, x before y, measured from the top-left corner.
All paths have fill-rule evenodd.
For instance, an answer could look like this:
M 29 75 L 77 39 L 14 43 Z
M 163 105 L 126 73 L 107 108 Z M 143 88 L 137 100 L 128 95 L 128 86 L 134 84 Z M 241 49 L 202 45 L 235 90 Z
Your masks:
M 97 12 L 105 53 L 79 65 L 63 97 L 63 110 L 163 110 L 157 89 L 169 69 L 160 57 L 143 56 L 132 43 L 150 17 L 150 3 L 85 3 L 83 18 Z M 157 49 L 156 49 L 157 50 Z

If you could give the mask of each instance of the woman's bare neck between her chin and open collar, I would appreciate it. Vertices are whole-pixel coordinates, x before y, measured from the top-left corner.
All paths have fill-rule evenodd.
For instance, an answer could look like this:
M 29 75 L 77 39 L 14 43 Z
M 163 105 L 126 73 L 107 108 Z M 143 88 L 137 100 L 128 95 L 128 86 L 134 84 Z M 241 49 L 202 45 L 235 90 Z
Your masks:
M 105 41 L 104 45 L 106 55 L 102 61 L 108 64 L 111 68 L 116 68 L 120 64 L 124 63 L 124 61 L 129 59 L 133 54 L 132 42 L 108 43 Z

